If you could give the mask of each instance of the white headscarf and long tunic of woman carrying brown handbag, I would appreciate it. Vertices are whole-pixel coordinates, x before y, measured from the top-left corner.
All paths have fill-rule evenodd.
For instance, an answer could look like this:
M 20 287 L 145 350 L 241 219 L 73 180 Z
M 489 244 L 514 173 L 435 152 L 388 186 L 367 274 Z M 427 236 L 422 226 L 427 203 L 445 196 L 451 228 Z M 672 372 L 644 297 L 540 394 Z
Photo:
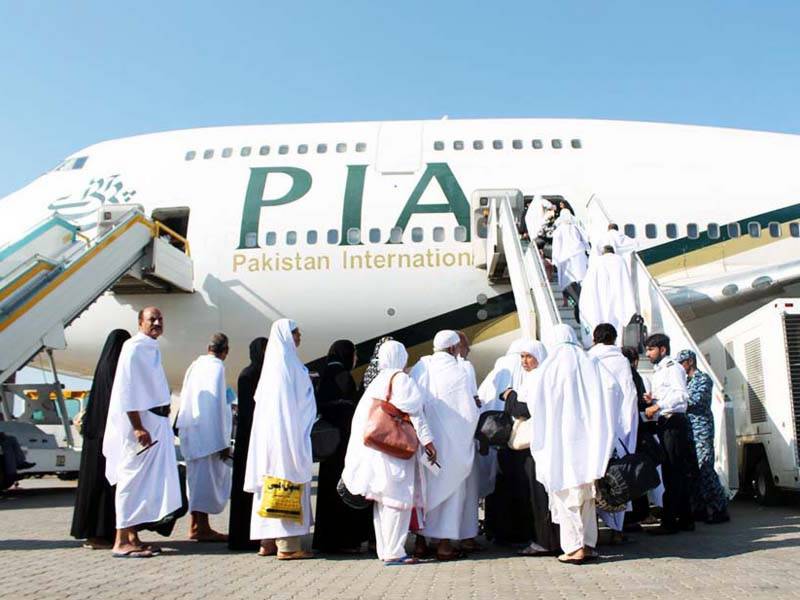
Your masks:
M 424 394 L 414 380 L 402 372 L 407 360 L 408 353 L 400 342 L 385 342 L 378 351 L 380 371 L 364 391 L 353 415 L 342 471 L 342 481 L 351 493 L 400 510 L 422 504 L 421 490 L 414 486 L 415 459 L 394 458 L 368 448 L 364 445 L 364 430 L 373 399 L 386 398 L 393 375 L 392 404 L 412 418 L 422 412 Z

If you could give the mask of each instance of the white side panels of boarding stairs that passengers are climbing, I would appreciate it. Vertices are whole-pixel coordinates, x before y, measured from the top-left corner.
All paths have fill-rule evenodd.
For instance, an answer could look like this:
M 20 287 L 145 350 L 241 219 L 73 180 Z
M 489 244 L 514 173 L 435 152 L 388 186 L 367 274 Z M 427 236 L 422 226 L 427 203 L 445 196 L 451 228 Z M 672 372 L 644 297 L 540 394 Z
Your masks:
M 550 345 L 553 343 L 553 327 L 564 323 L 573 327 L 579 340 L 584 343 L 590 341 L 586 327 L 575 320 L 573 307 L 563 304 L 561 291 L 554 278 L 548 278 L 539 249 L 535 244 L 520 239 L 517 222 L 522 218 L 522 193 L 514 189 L 478 190 L 475 195 L 488 199 L 485 247 L 487 277 L 493 285 L 511 285 L 520 334 Z M 595 231 L 606 230 L 611 219 L 600 199 L 591 196 L 586 208 L 590 228 Z M 739 482 L 732 403 L 658 281 L 635 252 L 631 256 L 630 268 L 638 312 L 644 318 L 648 331 L 667 334 L 676 352 L 684 348 L 693 350 L 698 368 L 708 373 L 714 382 L 715 467 L 722 484 L 733 495 Z M 639 360 L 639 372 L 645 376 L 652 373 L 649 361 L 644 356 Z

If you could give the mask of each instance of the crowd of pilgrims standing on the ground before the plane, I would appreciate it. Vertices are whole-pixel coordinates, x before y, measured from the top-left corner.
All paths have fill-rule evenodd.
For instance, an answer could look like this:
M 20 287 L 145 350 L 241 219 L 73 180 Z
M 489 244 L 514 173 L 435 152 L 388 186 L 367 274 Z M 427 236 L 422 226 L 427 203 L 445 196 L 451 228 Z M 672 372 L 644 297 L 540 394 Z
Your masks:
M 88 548 L 155 556 L 161 548 L 140 532 L 168 536 L 188 512 L 190 539 L 280 560 L 374 550 L 387 565 L 447 561 L 484 550 L 483 533 L 526 556 L 581 564 L 598 557 L 598 517 L 610 543 L 655 524 L 656 514 L 660 524 L 648 532 L 657 534 L 728 519 L 713 466 L 710 380 L 690 351 L 671 358 L 663 334 L 646 343 L 652 381 L 637 372 L 638 352 L 617 345 L 616 327 L 600 323 L 588 351 L 567 325 L 556 326 L 548 348 L 515 341 L 480 385 L 462 332 L 438 332 L 432 353 L 414 365 L 402 343 L 383 338 L 360 382 L 355 345 L 339 340 L 315 385 L 297 353 L 297 324 L 279 319 L 269 338 L 251 342 L 236 393 L 225 383 L 228 338 L 214 334 L 186 371 L 170 419 L 163 329 L 157 308 L 142 310 L 136 335 L 111 332 L 97 364 L 72 524 Z M 413 425 L 418 449 L 409 458 L 366 443 L 381 400 Z M 487 411 L 507 413 L 515 429 L 526 423 L 521 447 L 477 443 Z M 321 422 L 338 443 L 320 462 L 314 514 L 312 431 Z M 644 443 L 660 446 L 663 484 L 621 509 L 601 509 L 595 482 L 609 460 Z M 272 503 L 280 493 L 291 502 Z M 228 502 L 222 534 L 209 514 Z M 301 543 L 312 525 L 316 553 Z

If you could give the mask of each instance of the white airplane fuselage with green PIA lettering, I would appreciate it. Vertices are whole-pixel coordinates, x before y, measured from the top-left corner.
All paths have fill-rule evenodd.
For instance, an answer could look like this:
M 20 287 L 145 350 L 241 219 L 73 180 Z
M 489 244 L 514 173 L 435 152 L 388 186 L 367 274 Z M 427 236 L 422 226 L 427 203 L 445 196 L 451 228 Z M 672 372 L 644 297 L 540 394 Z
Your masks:
M 281 317 L 300 326 L 306 361 L 349 338 L 363 362 L 387 334 L 419 354 L 436 330 L 458 328 L 477 338 L 481 370 L 513 337 L 515 309 L 510 288 L 491 285 L 476 266 L 474 190 L 563 196 L 579 218 L 591 197 L 602 199 L 613 220 L 636 226 L 643 259 L 703 339 L 797 281 L 798 157 L 799 136 L 614 121 L 174 131 L 90 146 L 0 200 L 0 243 L 53 211 L 90 232 L 104 203 L 138 203 L 148 214 L 188 208 L 196 292 L 104 295 L 67 329 L 58 359 L 74 373 L 91 374 L 106 334 L 135 330 L 136 312 L 150 304 L 165 315 L 162 355 L 175 387 L 215 331 L 231 338 L 227 372 L 235 381 L 250 340 Z M 750 236 L 751 221 L 765 230 L 778 223 L 781 236 Z M 745 225 L 740 238 L 708 236 L 709 223 L 732 222 Z M 688 224 L 697 224 L 698 239 Z M 393 243 L 397 228 L 401 241 Z M 751 274 L 772 284 L 748 288 Z M 734 279 L 747 285 L 720 295 Z

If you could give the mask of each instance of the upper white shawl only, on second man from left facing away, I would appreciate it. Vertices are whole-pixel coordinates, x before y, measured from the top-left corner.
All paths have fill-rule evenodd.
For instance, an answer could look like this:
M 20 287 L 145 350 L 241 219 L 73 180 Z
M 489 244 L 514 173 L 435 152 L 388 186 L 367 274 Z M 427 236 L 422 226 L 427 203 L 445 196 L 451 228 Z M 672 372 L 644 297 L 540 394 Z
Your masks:
M 230 447 L 232 416 L 226 398 L 225 366 L 216 356 L 205 354 L 189 365 L 175 424 L 186 460 Z

